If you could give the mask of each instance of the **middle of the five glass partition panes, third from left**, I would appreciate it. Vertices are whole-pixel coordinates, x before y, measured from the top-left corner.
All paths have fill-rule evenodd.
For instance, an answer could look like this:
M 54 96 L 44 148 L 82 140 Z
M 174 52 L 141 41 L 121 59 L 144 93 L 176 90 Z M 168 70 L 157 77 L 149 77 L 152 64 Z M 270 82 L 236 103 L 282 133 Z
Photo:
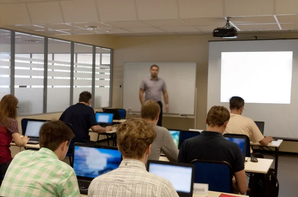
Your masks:
M 63 111 L 70 106 L 71 43 L 49 39 L 48 52 L 47 112 Z

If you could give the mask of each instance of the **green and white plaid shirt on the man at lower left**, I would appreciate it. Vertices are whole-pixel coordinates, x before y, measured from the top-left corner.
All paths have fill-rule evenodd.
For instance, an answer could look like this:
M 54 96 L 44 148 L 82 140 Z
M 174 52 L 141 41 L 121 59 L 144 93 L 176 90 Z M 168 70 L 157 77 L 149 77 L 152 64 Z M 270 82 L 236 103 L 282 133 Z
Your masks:
M 2 197 L 80 197 L 74 169 L 48 148 L 25 150 L 12 159 Z

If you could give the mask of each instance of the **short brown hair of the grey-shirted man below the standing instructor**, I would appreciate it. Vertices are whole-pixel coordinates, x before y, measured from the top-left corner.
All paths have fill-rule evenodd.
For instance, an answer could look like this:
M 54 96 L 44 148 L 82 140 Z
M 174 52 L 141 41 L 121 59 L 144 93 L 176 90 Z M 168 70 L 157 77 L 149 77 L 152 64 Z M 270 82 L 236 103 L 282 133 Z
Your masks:
M 159 104 L 154 100 L 146 100 L 142 104 L 141 118 L 155 120 L 160 113 Z

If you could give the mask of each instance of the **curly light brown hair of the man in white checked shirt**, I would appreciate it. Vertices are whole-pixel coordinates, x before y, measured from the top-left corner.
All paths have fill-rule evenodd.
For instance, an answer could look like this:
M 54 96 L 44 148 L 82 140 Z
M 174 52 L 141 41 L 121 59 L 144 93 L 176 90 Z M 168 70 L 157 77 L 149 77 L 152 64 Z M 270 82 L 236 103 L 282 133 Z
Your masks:
M 131 118 L 117 127 L 117 143 L 123 157 L 140 159 L 156 138 L 153 123 Z

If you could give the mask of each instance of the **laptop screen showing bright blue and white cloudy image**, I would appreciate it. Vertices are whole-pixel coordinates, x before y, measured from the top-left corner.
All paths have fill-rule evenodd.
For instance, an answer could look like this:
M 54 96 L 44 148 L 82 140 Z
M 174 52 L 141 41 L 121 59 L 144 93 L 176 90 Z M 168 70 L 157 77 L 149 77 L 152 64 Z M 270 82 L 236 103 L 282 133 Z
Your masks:
M 74 146 L 76 176 L 95 178 L 119 167 L 121 153 L 117 149 Z

